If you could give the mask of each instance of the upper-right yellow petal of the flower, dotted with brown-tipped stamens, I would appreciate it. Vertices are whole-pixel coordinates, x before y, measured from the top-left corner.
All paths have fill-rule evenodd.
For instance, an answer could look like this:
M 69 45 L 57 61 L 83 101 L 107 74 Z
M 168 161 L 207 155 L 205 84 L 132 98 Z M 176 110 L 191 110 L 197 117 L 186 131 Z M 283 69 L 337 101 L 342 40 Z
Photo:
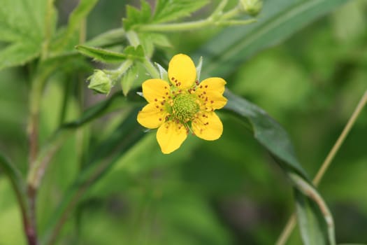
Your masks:
M 226 81 L 222 78 L 207 78 L 196 88 L 196 94 L 201 99 L 202 108 L 206 111 L 221 109 L 226 105 L 227 99 L 222 95 Z

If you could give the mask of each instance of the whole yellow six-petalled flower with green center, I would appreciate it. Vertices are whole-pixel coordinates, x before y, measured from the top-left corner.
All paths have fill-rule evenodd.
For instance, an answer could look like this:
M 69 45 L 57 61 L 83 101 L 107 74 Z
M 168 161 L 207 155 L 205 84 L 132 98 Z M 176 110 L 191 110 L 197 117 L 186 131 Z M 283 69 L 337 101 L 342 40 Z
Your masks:
M 212 141 L 223 132 L 216 109 L 225 106 L 226 81 L 207 78 L 199 83 L 196 68 L 187 55 L 175 55 L 168 64 L 169 83 L 148 79 L 143 83 L 143 95 L 148 104 L 138 113 L 138 123 L 157 130 L 157 141 L 165 154 L 177 150 L 187 134 Z

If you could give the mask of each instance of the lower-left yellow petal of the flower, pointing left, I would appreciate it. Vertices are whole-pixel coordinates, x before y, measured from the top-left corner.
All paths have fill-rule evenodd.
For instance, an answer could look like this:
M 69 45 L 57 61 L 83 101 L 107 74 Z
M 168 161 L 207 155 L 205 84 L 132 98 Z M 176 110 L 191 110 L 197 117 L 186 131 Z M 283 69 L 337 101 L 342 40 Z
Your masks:
M 148 129 L 155 129 L 164 123 L 166 111 L 161 111 L 155 104 L 147 104 L 138 113 L 138 123 Z

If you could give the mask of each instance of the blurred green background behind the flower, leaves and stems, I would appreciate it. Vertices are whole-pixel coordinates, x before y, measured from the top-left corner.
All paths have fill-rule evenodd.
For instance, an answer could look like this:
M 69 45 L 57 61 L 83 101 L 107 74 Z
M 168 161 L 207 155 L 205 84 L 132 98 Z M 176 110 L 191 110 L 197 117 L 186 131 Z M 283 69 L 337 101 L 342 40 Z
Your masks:
M 194 18 L 208 15 L 218 2 Z M 57 1 L 59 25 L 76 3 Z M 87 36 L 120 27 L 127 3 L 138 6 L 132 1 L 99 1 L 89 15 Z M 172 47 L 158 50 L 157 59 L 167 62 L 178 52 L 193 55 L 218 31 L 201 29 L 185 38 L 171 34 Z M 28 151 L 27 74 L 24 67 L 0 71 L 0 151 L 23 173 Z M 88 73 L 80 76 L 55 74 L 48 83 L 41 139 L 78 116 L 80 103 L 86 107 L 105 99 L 80 89 L 87 87 Z M 367 88 L 366 1 L 350 1 L 287 41 L 257 53 L 225 80 L 233 92 L 285 127 L 303 167 L 314 176 Z M 65 102 L 69 90 L 82 92 L 82 102 L 77 97 Z M 48 218 L 78 175 L 83 149 L 108 137 L 124 115 L 97 120 L 57 153 L 38 196 L 39 232 L 47 228 Z M 159 151 L 154 132 L 147 133 L 82 198 L 58 244 L 274 244 L 294 210 L 292 188 L 250 132 L 235 118 L 220 116 L 224 133 L 219 140 L 189 137 L 171 155 Z M 335 218 L 338 243 L 367 243 L 366 125 L 364 109 L 319 186 Z M 79 151 L 80 134 L 85 140 Z M 22 234 L 15 196 L 0 172 L 0 245 L 25 244 Z M 288 244 L 300 243 L 295 230 Z

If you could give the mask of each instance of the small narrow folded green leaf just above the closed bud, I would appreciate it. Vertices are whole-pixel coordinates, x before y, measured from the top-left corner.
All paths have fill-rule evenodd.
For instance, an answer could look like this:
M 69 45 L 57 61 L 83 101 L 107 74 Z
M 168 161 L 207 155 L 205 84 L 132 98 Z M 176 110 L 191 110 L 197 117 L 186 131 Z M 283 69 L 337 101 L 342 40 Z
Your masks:
M 85 45 L 77 45 L 76 50 L 82 55 L 92 57 L 94 60 L 105 63 L 123 62 L 126 59 L 143 60 L 144 51 L 141 45 L 137 48 L 129 46 L 123 53 L 105 50 L 103 48 L 93 48 Z

